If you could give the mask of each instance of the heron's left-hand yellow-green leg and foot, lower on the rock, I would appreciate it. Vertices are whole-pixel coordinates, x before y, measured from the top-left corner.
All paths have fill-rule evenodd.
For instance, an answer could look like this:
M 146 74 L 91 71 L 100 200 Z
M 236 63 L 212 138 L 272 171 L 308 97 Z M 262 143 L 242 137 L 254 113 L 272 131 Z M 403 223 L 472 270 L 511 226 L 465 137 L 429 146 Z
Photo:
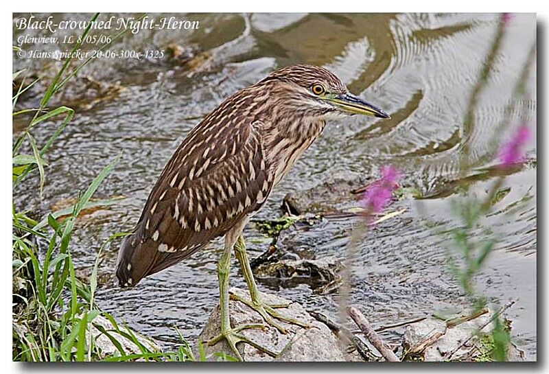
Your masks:
M 219 280 L 219 304 L 220 304 L 220 317 L 221 317 L 221 334 L 215 336 L 209 340 L 208 345 L 215 345 L 222 339 L 225 339 L 231 347 L 231 350 L 235 353 L 236 358 L 242 360 L 242 355 L 236 348 L 236 344 L 239 342 L 246 342 L 251 346 L 264 351 L 272 357 L 276 357 L 277 353 L 270 351 L 266 347 L 261 347 L 259 344 L 249 340 L 245 336 L 238 333 L 244 329 L 262 329 L 265 325 L 261 324 L 248 324 L 240 325 L 235 328 L 231 327 L 231 320 L 229 319 L 229 264 L 231 261 L 231 246 L 225 246 L 225 250 L 218 261 L 218 280 Z

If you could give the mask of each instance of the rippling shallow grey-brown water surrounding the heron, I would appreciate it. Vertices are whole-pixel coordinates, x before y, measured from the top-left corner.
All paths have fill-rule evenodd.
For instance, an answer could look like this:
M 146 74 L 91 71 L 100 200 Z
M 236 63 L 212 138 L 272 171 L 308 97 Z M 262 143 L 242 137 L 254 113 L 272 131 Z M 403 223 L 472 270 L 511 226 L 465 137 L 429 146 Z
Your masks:
M 77 108 L 47 156 L 43 201 L 36 198 L 34 178 L 16 189 L 16 204 L 45 211 L 84 189 L 121 152 L 115 171 L 96 196 L 126 198 L 86 216 L 73 235 L 75 264 L 86 270 L 104 239 L 135 224 L 163 165 L 200 117 L 277 67 L 320 65 L 392 118 L 353 117 L 328 124 L 256 218 L 279 216 L 281 199 L 288 191 L 305 191 L 338 178 L 356 180 L 353 187 L 359 187 L 360 180 L 379 175 L 379 167 L 393 164 L 404 174 L 402 184 L 416 187 L 426 199 L 397 202 L 390 209 L 406 207 L 406 212 L 366 235 L 355 259 L 352 302 L 374 325 L 463 307 L 465 298 L 445 266 L 447 237 L 437 233 L 456 226 L 448 209 L 450 200 L 465 189 L 469 195 L 482 196 L 493 183 L 494 174 L 486 168 L 494 165 L 494 139 L 499 142 L 507 135 L 500 124 L 510 117 L 514 125 L 526 121 L 535 132 L 535 62 L 524 76 L 526 94 L 521 100 L 513 95 L 535 44 L 535 15 L 517 14 L 506 25 L 502 49 L 482 84 L 478 77 L 498 29 L 499 14 L 202 14 L 186 18 L 199 19 L 200 29 L 143 30 L 125 36 L 124 43 L 192 46 L 211 56 L 207 63 L 193 70 L 165 60 L 97 60 L 88 65 L 83 74 L 108 84 L 119 82 L 124 89 L 91 108 Z M 15 69 L 23 66 L 20 60 L 14 64 Z M 33 61 L 30 67 L 41 69 L 42 64 Z M 478 100 L 471 102 L 477 86 Z M 472 121 L 467 121 L 471 108 Z M 51 134 L 55 124 L 50 125 L 37 128 L 36 137 Z M 465 151 L 473 172 L 463 170 Z M 508 313 L 513 338 L 530 358 L 535 358 L 537 340 L 535 158 L 534 136 L 528 144 L 530 162 L 506 179 L 509 194 L 483 221 L 500 242 L 478 277 L 479 290 L 494 301 L 517 301 Z M 348 205 L 353 204 L 349 195 Z M 344 259 L 352 225 L 349 219 L 323 219 L 308 230 L 283 233 L 279 246 L 297 252 L 306 248 L 316 258 Z M 269 239 L 261 237 L 253 225 L 246 229 L 246 237 L 252 257 L 268 246 Z M 107 312 L 167 346 L 178 342 L 174 325 L 193 341 L 217 303 L 215 263 L 220 245 L 220 240 L 214 242 L 132 290 L 117 288 L 113 276 L 104 277 L 97 301 Z M 104 274 L 113 274 L 116 253 L 117 244 L 113 244 L 102 262 Z M 244 287 L 236 267 L 233 264 L 231 284 Z M 259 286 L 337 316 L 336 295 L 312 294 L 307 283 L 260 282 Z M 397 334 L 384 336 L 397 341 Z

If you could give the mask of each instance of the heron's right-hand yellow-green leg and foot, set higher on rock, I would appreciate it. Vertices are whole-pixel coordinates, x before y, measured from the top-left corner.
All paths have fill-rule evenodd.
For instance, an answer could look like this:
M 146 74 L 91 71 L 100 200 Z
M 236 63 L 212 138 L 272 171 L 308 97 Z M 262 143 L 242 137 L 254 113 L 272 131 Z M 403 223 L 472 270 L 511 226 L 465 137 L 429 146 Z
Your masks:
M 277 310 L 274 309 L 276 307 L 288 307 L 288 305 L 268 305 L 261 300 L 261 296 L 259 296 L 259 291 L 257 290 L 257 285 L 255 284 L 255 279 L 253 277 L 250 261 L 248 261 L 248 255 L 246 254 L 246 244 L 244 243 L 244 237 L 242 237 L 242 235 L 238 237 L 235 243 L 235 255 L 238 259 L 238 262 L 240 263 L 242 272 L 244 273 L 244 279 L 246 279 L 246 283 L 248 284 L 251 301 L 235 294 L 231 294 L 232 299 L 241 301 L 242 303 L 248 305 L 248 307 L 254 309 L 257 313 L 261 314 L 266 323 L 273 327 L 276 327 L 282 334 L 286 333 L 286 329 L 279 325 L 279 323 L 274 321 L 272 317 L 278 318 L 279 320 L 283 320 L 288 323 L 292 323 L 294 325 L 299 325 L 301 327 L 309 327 L 309 325 L 307 325 L 306 323 L 285 316 L 284 314 L 279 313 L 277 312 Z

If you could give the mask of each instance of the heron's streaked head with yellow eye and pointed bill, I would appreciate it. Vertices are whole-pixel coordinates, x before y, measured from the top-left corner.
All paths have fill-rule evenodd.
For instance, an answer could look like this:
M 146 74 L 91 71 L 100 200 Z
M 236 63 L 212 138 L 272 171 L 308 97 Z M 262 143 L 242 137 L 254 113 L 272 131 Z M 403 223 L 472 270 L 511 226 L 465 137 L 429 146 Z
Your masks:
M 349 115 L 390 118 L 383 110 L 349 92 L 327 69 L 295 65 L 274 71 L 259 82 L 269 86 L 271 97 L 303 117 L 340 119 Z

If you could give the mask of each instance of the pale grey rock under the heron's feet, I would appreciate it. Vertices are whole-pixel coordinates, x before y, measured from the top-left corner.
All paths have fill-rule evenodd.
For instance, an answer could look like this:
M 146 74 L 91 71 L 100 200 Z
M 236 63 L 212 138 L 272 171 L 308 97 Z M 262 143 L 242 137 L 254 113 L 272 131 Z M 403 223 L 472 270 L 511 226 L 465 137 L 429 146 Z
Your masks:
M 231 293 L 249 298 L 248 292 L 239 288 L 231 288 Z M 240 334 L 246 338 L 264 347 L 268 347 L 271 351 L 279 352 L 277 358 L 273 358 L 267 353 L 250 346 L 250 344 L 241 342 L 237 344 L 237 349 L 240 351 L 244 361 L 295 362 L 347 360 L 347 356 L 340 347 L 340 341 L 334 333 L 326 325 L 310 316 L 303 306 L 272 294 L 265 294 L 263 292 L 260 292 L 260 294 L 266 303 L 290 303 L 288 307 L 278 310 L 291 318 L 307 323 L 310 327 L 303 328 L 277 320 L 277 322 L 288 330 L 287 334 L 281 334 L 276 328 L 271 326 L 266 327 L 266 329 L 242 330 Z M 229 312 L 232 327 L 249 323 L 264 323 L 263 318 L 257 312 L 240 301 L 230 300 Z M 224 340 L 213 345 L 213 347 L 207 344 L 211 338 L 220 334 L 219 321 L 220 309 L 218 305 L 211 312 L 210 318 L 199 337 L 199 340 L 203 342 L 207 360 L 218 360 L 218 356 L 215 353 L 226 353 L 227 355 L 234 356 L 229 344 Z M 198 347 L 194 347 L 194 351 L 198 352 Z

